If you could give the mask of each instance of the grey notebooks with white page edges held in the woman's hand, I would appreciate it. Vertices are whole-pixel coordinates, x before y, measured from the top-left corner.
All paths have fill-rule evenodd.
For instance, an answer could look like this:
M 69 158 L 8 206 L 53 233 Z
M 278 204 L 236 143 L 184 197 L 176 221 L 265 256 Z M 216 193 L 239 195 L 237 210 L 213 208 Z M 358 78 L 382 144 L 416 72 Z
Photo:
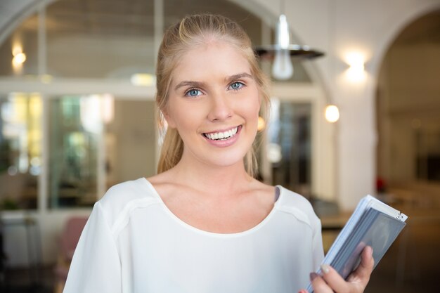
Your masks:
M 408 216 L 377 200 L 371 195 L 361 199 L 333 242 L 322 263 L 328 264 L 347 279 L 361 262 L 361 252 L 367 245 L 373 247 L 375 267 L 406 226 Z M 321 269 L 316 273 L 321 275 Z M 307 287 L 313 292 L 311 284 Z

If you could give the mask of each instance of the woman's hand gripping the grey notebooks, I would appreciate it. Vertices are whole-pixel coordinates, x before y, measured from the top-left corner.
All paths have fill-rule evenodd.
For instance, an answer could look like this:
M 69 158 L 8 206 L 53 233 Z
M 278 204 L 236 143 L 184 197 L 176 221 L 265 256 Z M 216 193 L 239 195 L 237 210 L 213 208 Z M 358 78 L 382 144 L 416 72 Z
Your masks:
M 374 267 L 373 249 L 369 246 L 363 249 L 361 264 L 349 275 L 347 281 L 344 280 L 337 271 L 331 266 L 321 266 L 323 276 L 311 273 L 311 284 L 315 293 L 362 293 L 370 280 L 371 272 Z M 302 289 L 299 293 L 306 293 Z

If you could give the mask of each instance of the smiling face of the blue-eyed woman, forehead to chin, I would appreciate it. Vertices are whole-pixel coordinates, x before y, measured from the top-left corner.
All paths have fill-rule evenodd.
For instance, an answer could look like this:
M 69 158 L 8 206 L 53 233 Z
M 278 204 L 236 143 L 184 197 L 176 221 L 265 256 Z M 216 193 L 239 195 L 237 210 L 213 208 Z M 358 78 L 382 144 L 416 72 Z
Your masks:
M 183 140 L 182 159 L 242 166 L 257 134 L 259 108 L 247 59 L 233 46 L 215 42 L 179 60 L 164 115 Z

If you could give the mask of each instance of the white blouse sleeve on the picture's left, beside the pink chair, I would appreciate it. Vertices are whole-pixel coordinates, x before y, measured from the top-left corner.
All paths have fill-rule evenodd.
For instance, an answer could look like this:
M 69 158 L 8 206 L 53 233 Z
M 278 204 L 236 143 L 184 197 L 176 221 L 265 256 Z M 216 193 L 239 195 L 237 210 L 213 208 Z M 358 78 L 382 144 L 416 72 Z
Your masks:
M 79 238 L 63 292 L 122 292 L 117 246 L 100 202 Z

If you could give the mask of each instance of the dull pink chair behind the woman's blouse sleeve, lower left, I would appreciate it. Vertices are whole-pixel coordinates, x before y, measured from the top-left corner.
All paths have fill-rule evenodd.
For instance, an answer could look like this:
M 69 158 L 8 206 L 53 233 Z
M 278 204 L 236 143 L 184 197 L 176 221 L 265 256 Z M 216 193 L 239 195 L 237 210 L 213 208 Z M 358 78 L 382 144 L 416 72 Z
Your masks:
M 88 217 L 73 216 L 65 223 L 63 233 L 60 235 L 60 252 L 55 267 L 56 285 L 55 292 L 63 292 L 67 273 L 69 272 L 70 261 L 77 247 L 79 236 L 86 225 Z

